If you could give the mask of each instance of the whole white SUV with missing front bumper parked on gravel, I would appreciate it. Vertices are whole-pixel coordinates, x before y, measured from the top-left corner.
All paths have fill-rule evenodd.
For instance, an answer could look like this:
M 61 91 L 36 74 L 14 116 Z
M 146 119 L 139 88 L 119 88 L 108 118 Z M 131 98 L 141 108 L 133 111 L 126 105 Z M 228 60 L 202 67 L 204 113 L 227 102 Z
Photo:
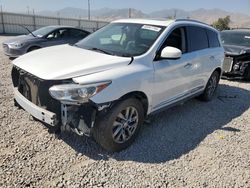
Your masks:
M 195 96 L 211 100 L 223 59 L 219 33 L 206 24 L 118 20 L 73 46 L 14 60 L 15 104 L 51 127 L 119 151 L 148 115 Z

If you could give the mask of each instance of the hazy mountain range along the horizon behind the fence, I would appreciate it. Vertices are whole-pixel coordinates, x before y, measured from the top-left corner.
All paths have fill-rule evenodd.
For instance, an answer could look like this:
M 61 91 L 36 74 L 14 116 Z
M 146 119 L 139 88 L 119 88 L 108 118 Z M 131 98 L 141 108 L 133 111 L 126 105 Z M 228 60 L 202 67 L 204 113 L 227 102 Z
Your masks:
M 87 19 L 88 10 L 81 8 L 67 7 L 58 11 L 40 11 L 39 15 L 60 16 L 66 18 L 83 18 Z M 182 9 L 163 9 L 151 13 L 144 13 L 137 9 L 110 9 L 102 8 L 91 10 L 91 19 L 112 21 L 121 18 L 190 18 L 212 24 L 218 18 L 230 16 L 231 27 L 250 28 L 250 16 L 242 13 L 228 12 L 221 9 L 197 9 L 186 11 Z

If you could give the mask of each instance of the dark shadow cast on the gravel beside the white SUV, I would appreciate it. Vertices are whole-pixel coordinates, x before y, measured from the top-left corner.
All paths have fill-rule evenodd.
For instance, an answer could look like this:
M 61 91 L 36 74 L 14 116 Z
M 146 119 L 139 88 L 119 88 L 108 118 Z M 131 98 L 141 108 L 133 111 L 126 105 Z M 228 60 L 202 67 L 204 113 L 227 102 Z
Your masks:
M 249 109 L 249 96 L 248 90 L 220 85 L 217 97 L 211 102 L 193 99 L 153 116 L 151 123 L 141 129 L 135 143 L 119 153 L 108 153 L 92 139 L 72 137 L 70 133 L 64 133 L 61 139 L 77 152 L 95 160 L 113 158 L 142 163 L 166 162 L 195 149 L 215 130 L 237 134 L 239 129 L 225 125 Z

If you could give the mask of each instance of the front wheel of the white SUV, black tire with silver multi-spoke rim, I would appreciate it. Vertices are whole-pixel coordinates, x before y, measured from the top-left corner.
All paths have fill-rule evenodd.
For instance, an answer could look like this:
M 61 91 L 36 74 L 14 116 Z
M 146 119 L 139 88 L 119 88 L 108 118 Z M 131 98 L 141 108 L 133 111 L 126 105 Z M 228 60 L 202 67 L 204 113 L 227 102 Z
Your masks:
M 117 103 L 109 112 L 97 118 L 93 137 L 104 149 L 118 152 L 134 142 L 143 121 L 142 103 L 129 98 Z

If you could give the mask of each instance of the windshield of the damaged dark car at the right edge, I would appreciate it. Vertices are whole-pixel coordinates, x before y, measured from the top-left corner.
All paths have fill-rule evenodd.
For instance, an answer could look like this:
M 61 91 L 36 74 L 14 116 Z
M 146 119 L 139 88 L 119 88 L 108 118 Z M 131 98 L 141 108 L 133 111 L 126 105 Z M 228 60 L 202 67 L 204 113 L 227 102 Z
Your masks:
M 250 32 L 221 32 L 221 41 L 224 45 L 250 47 Z

